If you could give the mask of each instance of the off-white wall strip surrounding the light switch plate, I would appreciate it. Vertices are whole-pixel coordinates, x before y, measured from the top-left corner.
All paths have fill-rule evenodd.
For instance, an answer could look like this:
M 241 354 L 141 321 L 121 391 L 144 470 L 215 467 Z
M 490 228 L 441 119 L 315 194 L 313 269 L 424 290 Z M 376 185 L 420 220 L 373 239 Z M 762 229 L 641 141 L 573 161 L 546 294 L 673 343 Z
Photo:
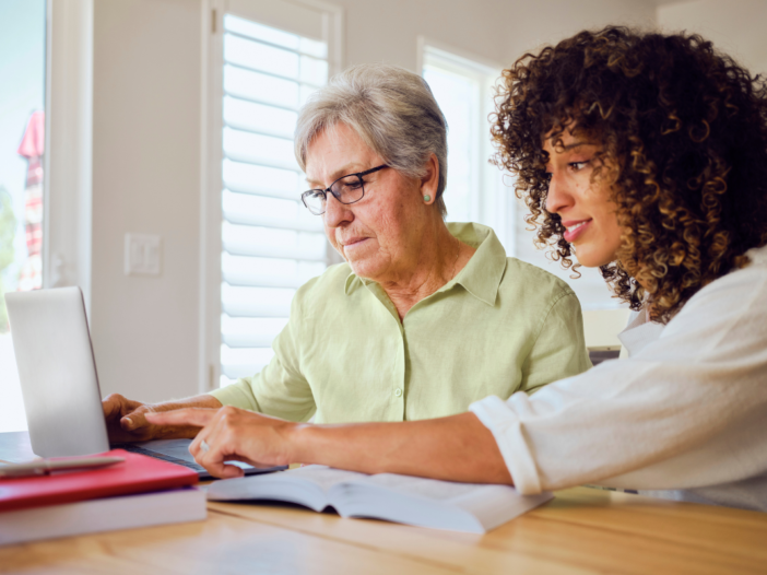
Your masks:
M 96 0 L 92 333 L 102 391 L 197 389 L 200 4 Z M 123 236 L 160 234 L 158 278 L 123 274 Z

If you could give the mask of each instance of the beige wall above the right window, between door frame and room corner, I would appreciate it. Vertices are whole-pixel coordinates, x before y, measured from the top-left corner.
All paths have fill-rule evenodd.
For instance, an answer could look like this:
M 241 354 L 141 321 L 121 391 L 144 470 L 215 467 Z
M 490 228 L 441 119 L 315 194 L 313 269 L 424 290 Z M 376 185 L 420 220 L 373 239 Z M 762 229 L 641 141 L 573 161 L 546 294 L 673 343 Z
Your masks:
M 524 50 L 606 24 L 654 25 L 652 0 L 329 0 L 346 14 L 345 64 L 416 69 L 418 35 L 503 66 Z

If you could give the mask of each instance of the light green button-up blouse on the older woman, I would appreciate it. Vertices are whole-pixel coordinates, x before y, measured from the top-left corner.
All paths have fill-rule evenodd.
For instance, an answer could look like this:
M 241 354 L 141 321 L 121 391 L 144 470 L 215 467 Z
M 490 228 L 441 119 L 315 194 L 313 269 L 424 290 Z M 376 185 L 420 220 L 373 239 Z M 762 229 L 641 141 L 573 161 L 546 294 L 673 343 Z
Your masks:
M 591 367 L 565 282 L 507 258 L 489 227 L 447 225 L 476 253 L 402 321 L 380 285 L 331 266 L 297 291 L 271 363 L 211 395 L 292 421 L 420 420 Z

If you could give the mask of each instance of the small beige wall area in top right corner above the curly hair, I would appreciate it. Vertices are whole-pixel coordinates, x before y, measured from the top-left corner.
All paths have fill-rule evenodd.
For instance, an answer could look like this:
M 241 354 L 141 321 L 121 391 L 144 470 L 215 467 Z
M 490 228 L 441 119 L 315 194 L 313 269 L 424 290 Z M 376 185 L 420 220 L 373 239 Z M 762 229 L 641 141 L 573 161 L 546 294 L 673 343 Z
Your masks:
M 767 74 L 765 0 L 694 0 L 661 5 L 658 24 L 665 32 L 696 32 L 752 73 Z

